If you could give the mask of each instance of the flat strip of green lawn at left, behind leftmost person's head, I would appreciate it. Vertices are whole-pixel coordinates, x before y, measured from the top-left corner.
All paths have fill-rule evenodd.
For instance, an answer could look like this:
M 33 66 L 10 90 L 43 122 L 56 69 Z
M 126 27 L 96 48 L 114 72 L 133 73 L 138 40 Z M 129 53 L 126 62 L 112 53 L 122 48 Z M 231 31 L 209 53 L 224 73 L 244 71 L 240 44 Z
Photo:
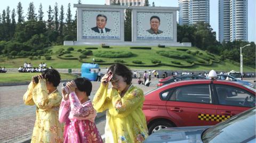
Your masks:
M 31 81 L 31 77 L 39 73 L 1 73 L 0 83 Z M 3 77 L 3 78 L 2 78 Z M 60 73 L 61 79 L 75 79 L 76 76 L 69 73 Z

